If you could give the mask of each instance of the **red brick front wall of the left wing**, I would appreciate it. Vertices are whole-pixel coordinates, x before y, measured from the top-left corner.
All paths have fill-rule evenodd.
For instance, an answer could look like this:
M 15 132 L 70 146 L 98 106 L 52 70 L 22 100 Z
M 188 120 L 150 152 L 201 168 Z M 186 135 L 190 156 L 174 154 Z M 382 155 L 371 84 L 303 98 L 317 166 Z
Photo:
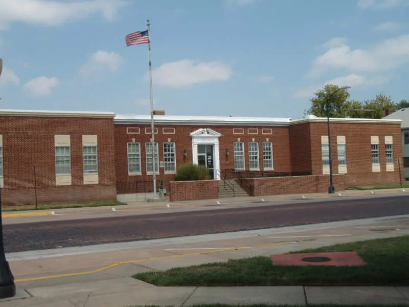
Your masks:
M 112 118 L 0 117 L 3 135 L 4 205 L 115 200 Z M 55 185 L 54 135 L 71 136 L 71 186 Z M 82 135 L 98 136 L 99 184 L 83 184 Z

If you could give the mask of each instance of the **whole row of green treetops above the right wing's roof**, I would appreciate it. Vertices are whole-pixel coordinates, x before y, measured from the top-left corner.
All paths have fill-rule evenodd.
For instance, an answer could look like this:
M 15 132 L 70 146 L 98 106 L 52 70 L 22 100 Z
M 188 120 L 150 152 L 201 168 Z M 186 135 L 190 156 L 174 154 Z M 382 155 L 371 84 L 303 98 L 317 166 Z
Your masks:
M 400 108 L 409 107 L 407 100 L 395 103 L 391 97 L 383 94 L 378 94 L 375 98 L 363 103 L 358 100 L 348 100 L 350 97 L 348 90 L 340 90 L 340 87 L 334 84 L 326 84 L 314 95 L 315 97 L 310 99 L 311 107 L 304 112 L 305 115 L 327 117 L 329 110 L 330 117 L 335 118 L 383 118 L 387 108 L 395 112 Z

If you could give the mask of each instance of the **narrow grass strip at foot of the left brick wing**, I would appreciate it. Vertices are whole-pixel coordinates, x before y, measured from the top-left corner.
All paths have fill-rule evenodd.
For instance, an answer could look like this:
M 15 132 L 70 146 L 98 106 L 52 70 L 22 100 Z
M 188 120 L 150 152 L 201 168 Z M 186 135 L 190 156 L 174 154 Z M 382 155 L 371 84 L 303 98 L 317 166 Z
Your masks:
M 9 206 L 3 207 L 2 210 L 6 211 L 26 211 L 26 210 L 47 210 L 47 209 L 63 209 L 63 208 L 82 208 L 82 207 L 104 207 L 104 206 L 120 206 L 125 205 L 118 201 L 94 201 L 94 202 L 75 202 L 75 203 L 51 203 L 51 204 L 38 204 L 35 205 L 22 205 L 22 206 Z

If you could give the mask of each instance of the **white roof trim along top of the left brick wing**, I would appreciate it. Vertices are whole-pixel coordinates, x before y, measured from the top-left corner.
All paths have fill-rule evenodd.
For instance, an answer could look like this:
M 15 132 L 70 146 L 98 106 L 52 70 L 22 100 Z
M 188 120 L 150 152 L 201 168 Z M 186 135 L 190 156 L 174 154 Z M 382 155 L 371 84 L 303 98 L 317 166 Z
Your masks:
M 113 118 L 113 112 L 73 112 L 73 111 L 35 111 L 19 109 L 0 109 L 0 116 L 30 116 L 30 117 L 99 117 Z

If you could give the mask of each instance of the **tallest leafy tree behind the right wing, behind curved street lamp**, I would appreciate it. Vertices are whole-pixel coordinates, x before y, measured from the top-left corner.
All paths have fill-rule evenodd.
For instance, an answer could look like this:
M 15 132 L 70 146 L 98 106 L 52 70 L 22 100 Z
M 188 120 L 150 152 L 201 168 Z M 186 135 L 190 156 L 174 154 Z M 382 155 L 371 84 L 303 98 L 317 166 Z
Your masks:
M 329 97 L 337 90 L 339 90 L 338 85 L 327 84 L 321 90 L 314 93 L 315 97 L 312 98 L 311 108 L 308 109 L 305 114 L 312 114 L 317 117 L 327 117 L 327 106 L 326 103 Z M 331 97 L 329 101 L 330 105 L 330 117 L 345 117 L 345 112 L 348 108 L 346 103 L 350 94 L 348 90 L 340 90 Z

